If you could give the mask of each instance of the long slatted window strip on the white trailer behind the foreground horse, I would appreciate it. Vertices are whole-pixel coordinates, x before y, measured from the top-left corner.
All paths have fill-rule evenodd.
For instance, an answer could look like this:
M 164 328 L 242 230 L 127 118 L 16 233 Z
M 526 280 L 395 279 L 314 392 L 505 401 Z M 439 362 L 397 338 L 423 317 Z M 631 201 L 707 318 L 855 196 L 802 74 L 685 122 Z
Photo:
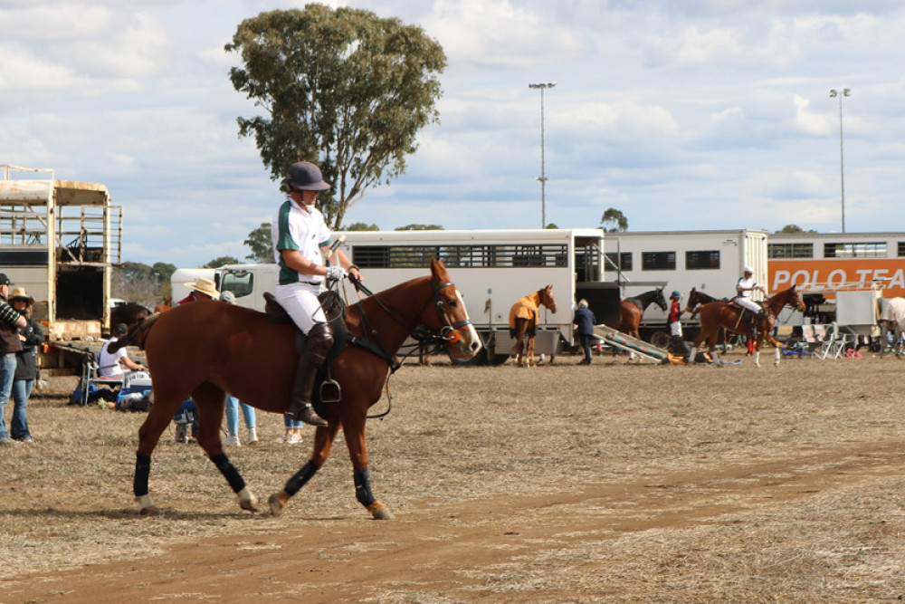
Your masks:
M 448 268 L 568 266 L 566 245 L 354 245 L 361 268 L 426 268 L 431 258 Z

